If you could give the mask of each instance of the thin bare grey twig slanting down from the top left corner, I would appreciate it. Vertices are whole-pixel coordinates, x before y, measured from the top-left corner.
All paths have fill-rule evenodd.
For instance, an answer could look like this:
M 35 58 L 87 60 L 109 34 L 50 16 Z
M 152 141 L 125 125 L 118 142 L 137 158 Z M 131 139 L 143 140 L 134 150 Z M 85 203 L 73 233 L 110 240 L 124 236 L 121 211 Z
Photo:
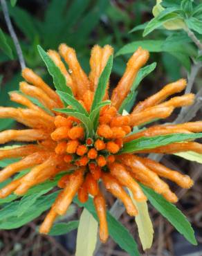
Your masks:
M 8 26 L 8 30 L 10 32 L 10 36 L 12 37 L 13 43 L 15 44 L 15 48 L 17 51 L 17 55 L 19 57 L 19 64 L 21 66 L 21 69 L 24 69 L 26 67 L 25 61 L 24 61 L 24 57 L 21 51 L 21 47 L 19 45 L 19 41 L 17 39 L 17 35 L 15 34 L 15 30 L 13 29 L 11 20 L 10 20 L 10 16 L 9 16 L 9 12 L 8 12 L 8 7 L 6 4 L 5 0 L 1 0 L 1 6 L 2 6 L 2 10 L 3 10 L 3 15 L 5 17 L 6 20 L 6 24 Z

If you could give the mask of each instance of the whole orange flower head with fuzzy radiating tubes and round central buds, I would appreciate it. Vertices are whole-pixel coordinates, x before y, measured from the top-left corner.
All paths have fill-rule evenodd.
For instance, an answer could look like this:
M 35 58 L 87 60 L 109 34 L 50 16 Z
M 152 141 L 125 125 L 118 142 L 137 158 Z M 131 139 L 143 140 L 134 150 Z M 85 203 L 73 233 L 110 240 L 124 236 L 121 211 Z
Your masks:
M 119 113 L 122 102 L 130 93 L 138 71 L 147 62 L 149 53 L 138 48 L 131 56 L 109 101 L 109 80 L 106 79 L 106 73 L 112 60 L 111 55 L 111 46 L 102 48 L 95 45 L 91 51 L 91 72 L 86 75 L 73 48 L 61 44 L 59 53 L 48 51 L 46 59 L 65 78 L 65 86 L 71 93 L 62 89 L 55 92 L 41 77 L 25 68 L 22 76 L 26 82 L 19 84 L 20 92 L 10 92 L 10 99 L 23 107 L 0 107 L 0 118 L 14 118 L 28 127 L 1 131 L 1 144 L 10 141 L 28 144 L 0 150 L 0 159 L 21 158 L 17 163 L 1 170 L 0 181 L 6 181 L 22 170 L 30 170 L 1 188 L 1 199 L 12 192 L 24 195 L 33 186 L 64 173 L 57 183 L 61 189 L 59 196 L 39 229 L 42 233 L 47 234 L 55 219 L 66 213 L 76 194 L 82 203 L 90 195 L 100 220 L 100 240 L 107 241 L 107 207 L 100 184 L 122 201 L 131 216 L 136 216 L 138 211 L 125 188 L 131 190 L 136 201 L 147 201 L 140 187 L 140 183 L 143 183 L 162 194 L 167 201 L 175 203 L 178 200 L 176 194 L 161 178 L 169 179 L 182 188 L 190 188 L 193 184 L 189 176 L 170 170 L 141 154 L 186 151 L 202 153 L 202 145 L 190 140 L 194 133 L 202 131 L 201 121 L 181 125 L 147 125 L 145 129 L 134 130 L 134 127 L 153 120 L 167 118 L 175 108 L 192 104 L 192 93 L 167 100 L 170 95 L 183 91 L 186 81 L 181 79 L 165 85 L 158 93 L 136 104 L 131 113 L 122 115 Z M 34 104 L 30 97 L 40 104 Z M 156 136 L 165 138 L 174 134 L 187 137 L 145 149 L 137 147 L 125 150 L 129 145 L 134 145 L 131 143 L 142 139 L 147 141 Z

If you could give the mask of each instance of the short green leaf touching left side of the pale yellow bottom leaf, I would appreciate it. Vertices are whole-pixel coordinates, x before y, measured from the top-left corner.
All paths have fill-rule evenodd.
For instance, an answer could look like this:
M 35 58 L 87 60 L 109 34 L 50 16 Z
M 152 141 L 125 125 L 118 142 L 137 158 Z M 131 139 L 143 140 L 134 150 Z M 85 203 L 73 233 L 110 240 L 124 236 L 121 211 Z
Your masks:
M 68 223 L 55 223 L 48 235 L 65 235 L 79 226 L 79 221 L 69 221 Z

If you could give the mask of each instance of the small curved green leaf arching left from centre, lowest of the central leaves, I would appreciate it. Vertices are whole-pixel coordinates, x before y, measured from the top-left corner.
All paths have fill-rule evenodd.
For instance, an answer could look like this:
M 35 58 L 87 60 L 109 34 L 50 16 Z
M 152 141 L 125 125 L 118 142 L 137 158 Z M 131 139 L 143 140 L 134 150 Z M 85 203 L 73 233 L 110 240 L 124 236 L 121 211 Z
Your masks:
M 60 113 L 66 113 L 68 116 L 74 116 L 78 118 L 83 124 L 86 129 L 86 138 L 89 136 L 93 136 L 93 122 L 88 116 L 85 116 L 83 113 L 77 112 L 74 109 L 54 109 Z

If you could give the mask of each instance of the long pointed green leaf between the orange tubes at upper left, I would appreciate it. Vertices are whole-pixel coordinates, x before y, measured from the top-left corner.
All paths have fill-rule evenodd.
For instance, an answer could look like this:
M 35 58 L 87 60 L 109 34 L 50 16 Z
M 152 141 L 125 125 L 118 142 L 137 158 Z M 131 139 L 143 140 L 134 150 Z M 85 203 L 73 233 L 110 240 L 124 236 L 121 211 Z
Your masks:
M 44 60 L 44 63 L 48 68 L 48 73 L 53 77 L 53 83 L 55 85 L 55 88 L 58 91 L 63 91 L 64 93 L 73 95 L 71 88 L 66 85 L 66 78 L 59 70 L 58 66 L 55 65 L 55 62 L 51 60 L 51 58 L 48 56 L 48 54 L 44 51 L 44 49 L 41 46 L 38 45 L 37 48 L 39 51 L 39 55 L 41 55 L 42 60 Z

